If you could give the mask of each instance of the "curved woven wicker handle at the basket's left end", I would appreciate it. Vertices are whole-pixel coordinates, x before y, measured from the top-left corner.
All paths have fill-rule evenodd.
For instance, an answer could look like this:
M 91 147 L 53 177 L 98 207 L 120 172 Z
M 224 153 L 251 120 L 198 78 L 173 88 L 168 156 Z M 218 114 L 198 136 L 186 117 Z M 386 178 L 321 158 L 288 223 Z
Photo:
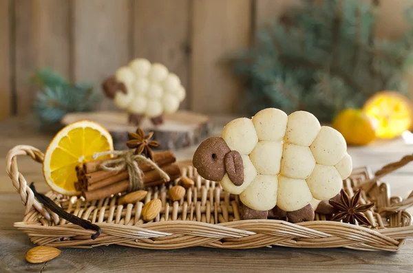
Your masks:
M 34 207 L 38 210 L 47 220 L 50 220 L 50 214 L 43 208 L 43 205 L 40 204 L 36 199 L 34 199 L 34 194 L 28 186 L 28 182 L 19 173 L 19 168 L 17 167 L 17 156 L 19 155 L 28 155 L 32 157 L 32 160 L 42 163 L 44 155 L 39 150 L 33 146 L 28 145 L 18 145 L 11 149 L 6 156 L 6 171 L 12 179 L 14 188 L 19 193 L 23 205 L 25 205 L 25 215 L 28 214 L 30 209 Z

